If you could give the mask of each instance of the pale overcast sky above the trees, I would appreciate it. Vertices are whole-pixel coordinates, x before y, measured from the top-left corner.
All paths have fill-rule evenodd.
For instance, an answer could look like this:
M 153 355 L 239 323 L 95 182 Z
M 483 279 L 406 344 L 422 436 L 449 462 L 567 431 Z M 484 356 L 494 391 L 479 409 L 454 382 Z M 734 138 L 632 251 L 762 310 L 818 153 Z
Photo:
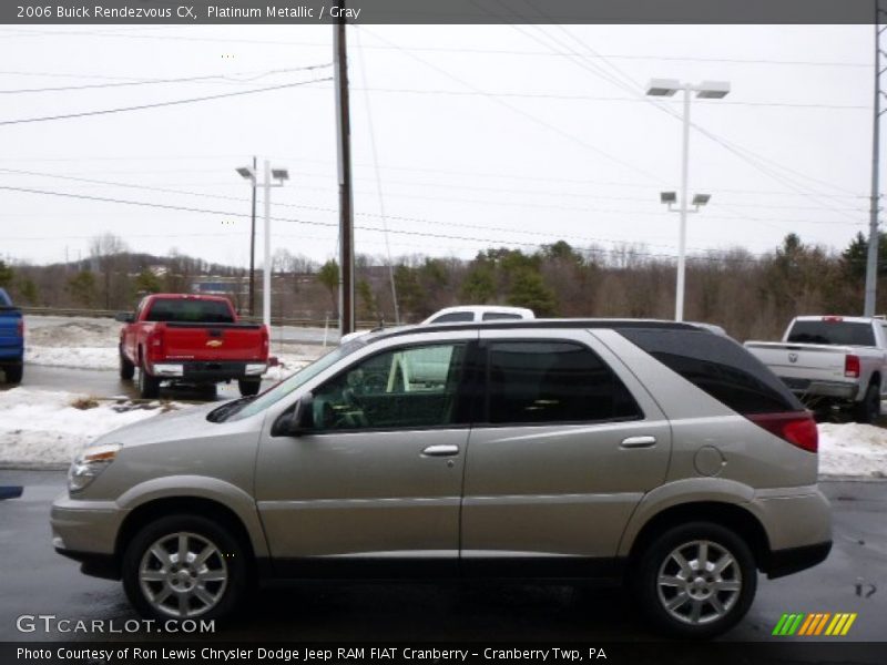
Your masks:
M 370 25 L 348 40 L 358 253 L 384 255 L 386 237 L 395 257 L 563 238 L 674 255 L 659 193 L 680 184 L 681 105 L 646 101 L 651 78 L 732 85 L 692 106 L 710 135 L 692 134 L 690 191 L 712 201 L 690 218 L 691 250 L 757 254 L 788 232 L 839 249 L 867 231 L 870 25 Z M 273 247 L 333 257 L 333 71 L 300 69 L 332 53 L 330 27 L 0 28 L 0 185 L 44 192 L 0 190 L 0 256 L 75 259 L 110 232 L 248 265 L 234 170 L 255 154 L 292 176 L 272 193 Z M 145 83 L 183 78 L 196 80 Z M 259 229 L 262 211 L 259 196 Z

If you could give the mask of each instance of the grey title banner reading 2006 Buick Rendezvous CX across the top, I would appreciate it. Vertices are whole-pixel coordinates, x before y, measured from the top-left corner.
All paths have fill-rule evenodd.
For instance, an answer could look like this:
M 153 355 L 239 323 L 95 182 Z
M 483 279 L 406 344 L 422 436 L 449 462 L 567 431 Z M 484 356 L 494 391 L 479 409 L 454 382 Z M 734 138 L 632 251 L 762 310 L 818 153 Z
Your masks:
M 874 23 L 876 0 L 19 0 L 7 24 Z

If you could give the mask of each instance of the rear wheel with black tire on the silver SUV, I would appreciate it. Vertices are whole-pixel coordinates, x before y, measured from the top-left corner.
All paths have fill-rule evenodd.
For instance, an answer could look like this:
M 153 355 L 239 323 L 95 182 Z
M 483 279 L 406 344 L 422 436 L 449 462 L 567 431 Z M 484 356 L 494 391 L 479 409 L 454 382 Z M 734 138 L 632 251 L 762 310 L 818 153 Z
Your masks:
M 702 543 L 706 544 L 708 562 L 704 571 L 700 566 Z M 692 557 L 694 552 L 696 556 Z M 673 557 L 675 553 L 684 556 L 685 569 Z M 718 573 L 717 565 L 725 563 L 725 555 L 730 562 Z M 660 574 L 665 582 L 662 585 Z M 730 529 L 711 522 L 691 522 L 664 531 L 640 554 L 629 575 L 635 601 L 648 618 L 660 631 L 680 637 L 704 640 L 728 631 L 748 612 L 757 589 L 757 570 L 748 545 Z M 676 603 L 673 610 L 666 607 L 669 602 Z M 699 616 L 694 618 L 696 607 Z

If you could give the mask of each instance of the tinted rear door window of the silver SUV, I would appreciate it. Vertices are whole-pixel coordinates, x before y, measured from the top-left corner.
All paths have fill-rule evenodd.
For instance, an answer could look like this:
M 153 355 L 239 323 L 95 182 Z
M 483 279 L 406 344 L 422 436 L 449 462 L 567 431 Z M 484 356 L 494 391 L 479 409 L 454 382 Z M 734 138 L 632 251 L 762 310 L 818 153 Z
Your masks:
M 612 369 L 568 341 L 491 341 L 487 412 L 492 424 L 591 422 L 642 418 Z

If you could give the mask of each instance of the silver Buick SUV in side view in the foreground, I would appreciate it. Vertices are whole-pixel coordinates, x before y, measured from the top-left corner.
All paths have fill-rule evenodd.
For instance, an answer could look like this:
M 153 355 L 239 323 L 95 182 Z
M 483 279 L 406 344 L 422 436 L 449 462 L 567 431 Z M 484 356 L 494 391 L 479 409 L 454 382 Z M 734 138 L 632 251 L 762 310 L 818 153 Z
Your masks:
M 95 441 L 57 550 L 163 618 L 255 581 L 622 580 L 706 637 L 830 549 L 816 426 L 738 344 L 639 320 L 415 327 Z

